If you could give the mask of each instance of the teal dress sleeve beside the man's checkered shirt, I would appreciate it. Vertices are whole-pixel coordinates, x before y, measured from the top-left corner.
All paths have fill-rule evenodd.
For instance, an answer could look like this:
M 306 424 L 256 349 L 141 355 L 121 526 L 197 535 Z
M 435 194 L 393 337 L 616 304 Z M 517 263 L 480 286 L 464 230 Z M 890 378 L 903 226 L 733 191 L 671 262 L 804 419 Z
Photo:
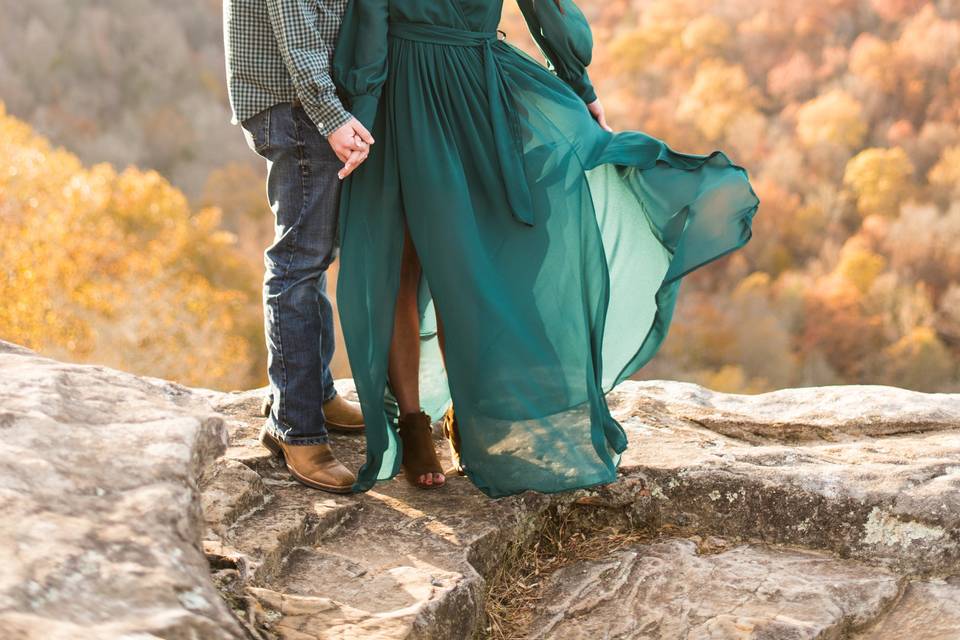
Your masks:
M 389 13 L 389 0 L 351 0 L 333 56 L 333 80 L 367 129 L 373 127 L 387 79 Z

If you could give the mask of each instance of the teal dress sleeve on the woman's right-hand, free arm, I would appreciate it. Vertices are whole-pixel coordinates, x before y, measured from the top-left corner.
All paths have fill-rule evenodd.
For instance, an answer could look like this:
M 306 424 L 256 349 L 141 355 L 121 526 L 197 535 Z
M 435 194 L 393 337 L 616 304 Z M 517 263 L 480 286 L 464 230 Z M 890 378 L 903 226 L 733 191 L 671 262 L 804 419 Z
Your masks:
M 517 0 L 533 39 L 550 68 L 584 102 L 597 99 L 587 74 L 593 57 L 593 34 L 586 16 L 573 0 Z

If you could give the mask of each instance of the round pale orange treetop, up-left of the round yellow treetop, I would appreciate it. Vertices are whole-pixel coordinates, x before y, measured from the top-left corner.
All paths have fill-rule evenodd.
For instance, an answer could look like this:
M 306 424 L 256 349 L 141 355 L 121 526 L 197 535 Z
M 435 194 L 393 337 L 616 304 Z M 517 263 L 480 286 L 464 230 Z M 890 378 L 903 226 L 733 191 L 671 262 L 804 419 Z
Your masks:
M 866 134 L 863 107 L 840 90 L 814 98 L 797 113 L 797 136 L 808 147 L 827 143 L 853 149 Z

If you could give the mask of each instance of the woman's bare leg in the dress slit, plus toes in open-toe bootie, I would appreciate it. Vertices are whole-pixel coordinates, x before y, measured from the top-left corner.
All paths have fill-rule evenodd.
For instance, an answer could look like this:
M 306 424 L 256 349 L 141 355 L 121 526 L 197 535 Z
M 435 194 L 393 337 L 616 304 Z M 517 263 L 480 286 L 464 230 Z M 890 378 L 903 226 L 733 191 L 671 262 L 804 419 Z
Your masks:
M 404 226 L 403 258 L 400 267 L 400 289 L 390 343 L 388 374 L 390 388 L 400 406 L 400 415 L 420 412 L 420 259 L 417 257 L 410 231 Z M 424 474 L 422 484 L 443 484 L 442 473 Z

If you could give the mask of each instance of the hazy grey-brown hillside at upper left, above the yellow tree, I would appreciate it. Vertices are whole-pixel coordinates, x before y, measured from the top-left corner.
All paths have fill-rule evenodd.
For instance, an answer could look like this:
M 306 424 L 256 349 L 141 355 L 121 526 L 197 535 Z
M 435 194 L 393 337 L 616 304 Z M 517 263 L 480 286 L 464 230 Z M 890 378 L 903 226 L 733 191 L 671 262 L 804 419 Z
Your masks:
M 87 163 L 191 197 L 251 162 L 228 120 L 220 0 L 0 0 L 0 100 Z

